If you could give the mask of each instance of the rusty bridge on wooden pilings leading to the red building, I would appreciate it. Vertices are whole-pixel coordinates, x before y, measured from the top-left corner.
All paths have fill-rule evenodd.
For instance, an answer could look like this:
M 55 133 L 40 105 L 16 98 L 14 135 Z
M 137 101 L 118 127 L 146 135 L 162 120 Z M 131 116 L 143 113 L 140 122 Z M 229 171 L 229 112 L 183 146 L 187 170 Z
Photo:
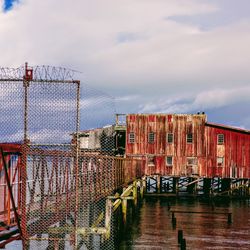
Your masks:
M 37 241 L 46 241 L 44 247 L 54 248 L 61 241 L 79 247 L 83 241 L 77 243 L 77 237 L 90 234 L 108 239 L 111 214 L 121 203 L 120 196 L 130 196 L 133 188 L 137 192 L 137 185 L 142 185 L 143 161 L 80 152 L 76 166 L 71 150 L 32 147 L 25 153 L 23 180 L 23 145 L 0 147 L 1 246 L 17 238 L 31 248 L 37 247 Z M 90 244 L 87 239 L 84 242 Z

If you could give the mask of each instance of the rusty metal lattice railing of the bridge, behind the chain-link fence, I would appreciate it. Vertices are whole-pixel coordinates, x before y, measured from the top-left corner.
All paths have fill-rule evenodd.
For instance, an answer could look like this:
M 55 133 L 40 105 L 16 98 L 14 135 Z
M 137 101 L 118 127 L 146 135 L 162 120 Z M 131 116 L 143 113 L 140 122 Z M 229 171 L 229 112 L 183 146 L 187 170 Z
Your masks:
M 15 161 L 10 161 L 13 155 L 16 155 Z M 78 212 L 83 211 L 145 174 L 145 162 L 142 160 L 84 153 L 79 155 L 79 168 L 76 173 L 74 151 L 70 148 L 45 150 L 31 147 L 27 151 L 27 180 L 22 182 L 18 177 L 21 171 L 20 153 L 8 153 L 6 160 L 16 206 L 22 220 L 23 238 L 28 241 L 49 241 L 50 228 L 55 227 L 57 223 L 63 223 L 64 226 L 77 224 L 76 220 L 79 218 L 74 215 L 76 205 L 79 207 Z M 4 179 L 5 176 L 2 175 L 0 191 L 3 186 L 5 190 L 1 192 L 1 197 L 5 205 L 1 207 L 0 214 L 5 216 L 3 221 L 10 225 L 16 221 Z M 21 191 L 26 192 L 25 204 L 20 202 Z M 71 222 L 66 222 L 67 220 Z M 79 228 L 83 224 L 86 224 L 86 221 L 82 221 Z M 66 237 L 63 240 L 68 239 Z

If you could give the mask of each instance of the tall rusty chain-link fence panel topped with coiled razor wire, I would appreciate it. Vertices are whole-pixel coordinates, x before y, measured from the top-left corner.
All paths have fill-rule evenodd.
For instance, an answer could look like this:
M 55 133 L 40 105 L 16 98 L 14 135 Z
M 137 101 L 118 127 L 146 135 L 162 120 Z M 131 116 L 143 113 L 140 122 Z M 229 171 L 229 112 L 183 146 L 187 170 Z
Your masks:
M 78 138 L 73 140 L 73 134 L 79 131 L 80 82 L 74 81 L 72 74 L 47 66 L 0 70 L 2 148 L 10 155 L 10 147 L 20 146 L 18 167 L 4 157 L 12 190 L 6 191 L 6 175 L 3 167 L 0 169 L 1 196 L 12 191 L 15 203 L 8 202 L 9 210 L 4 204 L 3 211 L 13 213 L 17 207 L 24 248 L 46 249 L 50 246 L 49 229 L 65 226 L 69 215 L 76 218 L 79 155 Z M 6 165 L 1 160 L 1 166 Z

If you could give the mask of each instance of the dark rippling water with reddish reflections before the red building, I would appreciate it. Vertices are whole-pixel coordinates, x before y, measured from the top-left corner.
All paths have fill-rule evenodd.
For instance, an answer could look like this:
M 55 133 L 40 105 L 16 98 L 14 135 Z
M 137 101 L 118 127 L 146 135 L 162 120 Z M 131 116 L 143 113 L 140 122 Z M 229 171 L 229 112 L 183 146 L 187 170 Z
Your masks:
M 190 199 L 169 200 L 146 198 L 124 229 L 119 249 L 180 249 L 178 230 L 183 230 L 187 249 L 250 249 L 250 200 L 215 202 Z M 175 213 L 171 210 L 199 212 L 232 212 L 227 214 Z

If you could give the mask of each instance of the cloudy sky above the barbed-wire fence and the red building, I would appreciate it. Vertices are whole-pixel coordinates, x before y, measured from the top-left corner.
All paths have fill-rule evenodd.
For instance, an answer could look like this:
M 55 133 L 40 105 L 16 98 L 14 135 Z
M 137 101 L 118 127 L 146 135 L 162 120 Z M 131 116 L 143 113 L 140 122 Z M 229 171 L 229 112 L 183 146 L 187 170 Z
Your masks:
M 250 129 L 249 0 L 0 4 L 1 66 L 78 70 L 118 113 L 205 111 Z

